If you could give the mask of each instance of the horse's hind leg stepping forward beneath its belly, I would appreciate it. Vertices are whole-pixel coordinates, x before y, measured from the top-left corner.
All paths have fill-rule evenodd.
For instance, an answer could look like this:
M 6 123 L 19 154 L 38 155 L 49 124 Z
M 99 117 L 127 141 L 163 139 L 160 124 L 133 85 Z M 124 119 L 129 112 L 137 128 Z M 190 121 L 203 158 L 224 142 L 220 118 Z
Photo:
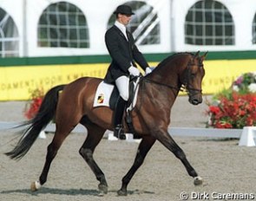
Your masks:
M 93 158 L 95 147 L 101 141 L 106 129 L 103 129 L 100 126 L 96 126 L 95 124 L 89 124 L 84 126 L 86 126 L 86 128 L 88 129 L 88 135 L 82 147 L 80 148 L 79 153 L 82 155 L 82 158 L 88 163 L 91 170 L 95 173 L 95 177 L 100 182 L 98 187 L 101 193 L 107 194 L 107 180 L 101 168 L 96 164 L 95 159 Z

